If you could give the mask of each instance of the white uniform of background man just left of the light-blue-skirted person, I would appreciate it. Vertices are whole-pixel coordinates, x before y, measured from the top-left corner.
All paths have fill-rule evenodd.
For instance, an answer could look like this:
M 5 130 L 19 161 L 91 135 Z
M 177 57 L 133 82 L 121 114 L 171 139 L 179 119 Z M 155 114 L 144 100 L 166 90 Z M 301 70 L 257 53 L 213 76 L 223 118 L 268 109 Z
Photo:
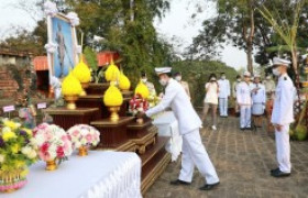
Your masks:
M 252 98 L 251 98 L 251 85 L 242 81 L 238 86 L 237 90 L 237 101 L 240 106 L 240 127 L 251 128 L 251 107 L 252 107 Z

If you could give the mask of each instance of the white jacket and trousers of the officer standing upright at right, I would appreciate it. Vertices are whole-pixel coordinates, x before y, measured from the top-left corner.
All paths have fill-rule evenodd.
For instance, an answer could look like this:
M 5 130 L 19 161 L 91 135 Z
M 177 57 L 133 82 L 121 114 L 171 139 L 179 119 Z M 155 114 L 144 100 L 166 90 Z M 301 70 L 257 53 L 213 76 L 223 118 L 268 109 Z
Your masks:
M 282 75 L 276 87 L 276 96 L 272 114 L 272 123 L 283 127 L 282 131 L 275 130 L 276 152 L 279 169 L 290 173 L 289 124 L 294 122 L 294 84 L 287 74 Z

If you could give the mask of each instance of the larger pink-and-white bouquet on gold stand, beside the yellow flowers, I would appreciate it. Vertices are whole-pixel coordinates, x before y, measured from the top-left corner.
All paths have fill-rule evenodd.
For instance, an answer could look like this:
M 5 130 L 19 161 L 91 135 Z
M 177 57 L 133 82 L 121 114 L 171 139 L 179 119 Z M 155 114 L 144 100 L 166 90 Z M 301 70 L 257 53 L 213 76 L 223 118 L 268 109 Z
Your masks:
M 55 124 L 42 123 L 33 130 L 38 146 L 38 156 L 46 162 L 46 170 L 56 169 L 56 161 L 61 164 L 72 155 L 70 136 Z

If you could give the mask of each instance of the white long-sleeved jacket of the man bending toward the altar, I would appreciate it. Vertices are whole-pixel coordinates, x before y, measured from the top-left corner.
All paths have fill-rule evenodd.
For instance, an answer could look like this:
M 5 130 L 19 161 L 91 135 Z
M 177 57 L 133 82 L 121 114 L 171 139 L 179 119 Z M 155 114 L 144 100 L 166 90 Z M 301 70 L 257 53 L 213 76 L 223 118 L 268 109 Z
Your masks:
M 174 79 L 169 79 L 165 96 L 154 108 L 147 110 L 145 114 L 152 117 L 170 107 L 179 124 L 182 134 L 189 133 L 202 125 L 202 122 L 195 111 L 185 89 Z

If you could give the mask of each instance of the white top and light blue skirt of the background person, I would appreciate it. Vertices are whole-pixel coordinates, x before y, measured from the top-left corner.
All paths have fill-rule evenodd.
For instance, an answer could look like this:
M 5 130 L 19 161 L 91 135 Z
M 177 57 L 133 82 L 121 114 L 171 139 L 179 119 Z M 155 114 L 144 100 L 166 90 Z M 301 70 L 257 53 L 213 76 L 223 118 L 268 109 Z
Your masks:
M 262 116 L 265 109 L 266 92 L 262 84 L 252 84 L 252 114 Z M 255 92 L 253 91 L 255 89 Z

